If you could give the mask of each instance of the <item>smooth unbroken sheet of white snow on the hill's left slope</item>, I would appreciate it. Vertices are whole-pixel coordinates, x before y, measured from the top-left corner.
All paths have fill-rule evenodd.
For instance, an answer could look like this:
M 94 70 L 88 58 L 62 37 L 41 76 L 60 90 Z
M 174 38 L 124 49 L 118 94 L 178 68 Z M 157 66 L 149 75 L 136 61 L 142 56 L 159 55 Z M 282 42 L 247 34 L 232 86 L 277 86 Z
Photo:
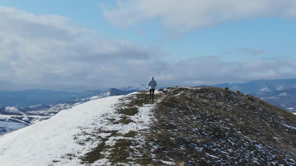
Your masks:
M 88 101 L 63 110 L 48 120 L 2 135 L 1 165 L 48 165 L 67 153 L 87 152 L 93 145 L 82 146 L 73 139 L 73 135 L 80 133 L 81 128 L 91 129 L 94 119 L 100 120 L 103 114 L 114 112 L 113 106 L 121 97 Z M 74 158 L 65 165 L 79 165 L 77 161 L 78 158 Z

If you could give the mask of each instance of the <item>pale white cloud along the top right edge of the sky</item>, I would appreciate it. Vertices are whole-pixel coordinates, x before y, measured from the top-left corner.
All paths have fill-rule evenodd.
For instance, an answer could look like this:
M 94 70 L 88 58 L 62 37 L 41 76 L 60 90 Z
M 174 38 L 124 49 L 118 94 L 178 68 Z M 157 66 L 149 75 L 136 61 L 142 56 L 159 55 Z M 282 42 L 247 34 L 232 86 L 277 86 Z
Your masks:
M 119 27 L 160 19 L 164 26 L 185 32 L 241 18 L 296 17 L 296 0 L 117 0 L 114 8 L 101 9 Z

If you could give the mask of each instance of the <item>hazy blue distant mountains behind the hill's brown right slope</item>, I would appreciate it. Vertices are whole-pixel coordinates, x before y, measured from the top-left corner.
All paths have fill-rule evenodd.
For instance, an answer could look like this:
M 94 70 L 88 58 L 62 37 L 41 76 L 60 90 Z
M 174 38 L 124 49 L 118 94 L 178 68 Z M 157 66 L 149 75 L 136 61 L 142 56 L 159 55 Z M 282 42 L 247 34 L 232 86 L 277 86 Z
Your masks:
M 246 83 L 219 83 L 210 86 L 228 87 L 230 90 L 239 90 L 243 93 L 255 93 L 258 91 L 282 90 L 296 87 L 296 78 L 294 79 L 262 79 L 252 80 Z

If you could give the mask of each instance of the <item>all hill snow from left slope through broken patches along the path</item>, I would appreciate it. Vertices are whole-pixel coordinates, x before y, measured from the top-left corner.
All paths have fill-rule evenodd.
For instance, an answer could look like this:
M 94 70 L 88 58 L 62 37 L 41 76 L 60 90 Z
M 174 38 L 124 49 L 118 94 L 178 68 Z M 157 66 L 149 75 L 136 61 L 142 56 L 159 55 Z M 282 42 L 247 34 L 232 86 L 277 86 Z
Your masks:
M 156 91 L 156 93 L 158 92 Z M 137 92 L 128 95 L 135 93 Z M 96 147 L 101 140 L 89 141 L 81 145 L 77 141 L 87 137 L 81 132 L 92 133 L 98 128 L 101 128 L 102 131 L 116 130 L 118 133 L 127 133 L 131 130 L 144 132 L 153 123 L 152 108 L 156 103 L 138 107 L 138 112 L 129 116 L 133 122 L 110 124 L 110 121 L 106 120 L 106 117 L 120 119 L 122 114 L 119 114 L 114 106 L 124 96 L 94 99 L 62 110 L 50 119 L 0 136 L 1 165 L 38 166 L 48 165 L 53 160 L 60 160 L 54 165 L 82 165 L 79 157 Z M 107 134 L 110 133 L 97 133 L 102 137 L 106 137 Z M 112 136 L 105 143 L 112 145 L 115 140 L 120 138 L 120 136 Z M 135 139 L 138 142 L 144 142 L 142 136 L 137 136 Z M 76 157 L 71 160 L 65 158 L 65 155 L 69 153 L 74 153 Z M 102 158 L 91 165 L 109 164 L 110 162 L 106 158 Z

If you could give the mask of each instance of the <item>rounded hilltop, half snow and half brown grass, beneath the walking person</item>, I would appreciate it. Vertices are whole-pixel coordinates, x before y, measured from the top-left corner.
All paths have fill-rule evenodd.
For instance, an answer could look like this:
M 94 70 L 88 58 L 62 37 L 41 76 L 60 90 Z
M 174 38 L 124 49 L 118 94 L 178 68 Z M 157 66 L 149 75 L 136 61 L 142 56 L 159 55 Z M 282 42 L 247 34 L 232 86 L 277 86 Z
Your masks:
M 294 165 L 296 115 L 217 87 L 94 99 L 0 137 L 5 165 Z

